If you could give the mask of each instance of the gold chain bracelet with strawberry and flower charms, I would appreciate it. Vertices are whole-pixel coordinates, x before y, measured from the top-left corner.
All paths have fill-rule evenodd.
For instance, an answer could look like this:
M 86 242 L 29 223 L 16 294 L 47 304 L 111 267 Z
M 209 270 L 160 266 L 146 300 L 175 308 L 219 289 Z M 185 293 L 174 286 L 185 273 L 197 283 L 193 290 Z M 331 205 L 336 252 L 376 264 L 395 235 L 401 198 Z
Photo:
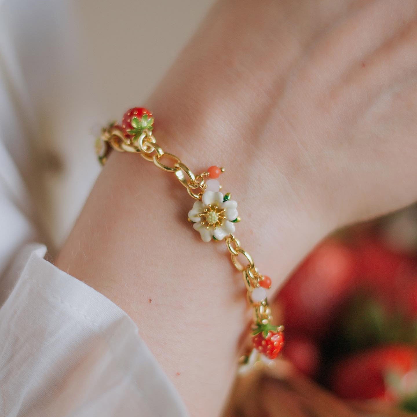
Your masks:
M 275 359 L 284 346 L 284 327 L 271 324 L 271 308 L 266 298 L 266 289 L 271 287 L 269 276 L 261 275 L 252 256 L 245 251 L 234 236 L 235 224 L 240 221 L 237 203 L 231 200 L 230 193 L 223 195 L 217 178 L 224 168 L 211 166 L 201 174 L 194 173 L 181 162 L 180 158 L 163 151 L 152 134 L 154 118 L 146 108 L 136 107 L 128 110 L 121 125 L 110 123 L 102 129 L 96 141 L 96 153 L 102 165 L 107 161 L 109 152 L 139 153 L 142 158 L 153 163 L 175 177 L 186 187 L 189 196 L 196 201 L 188 212 L 188 222 L 200 233 L 204 242 L 211 240 L 226 243 L 231 261 L 243 274 L 247 290 L 247 299 L 254 311 L 254 323 L 251 329 L 253 342 L 252 354 L 242 357 L 241 362 L 256 362 L 259 354 L 267 359 Z M 168 163 L 170 162 L 170 163 Z M 239 261 L 241 255 L 244 263 Z

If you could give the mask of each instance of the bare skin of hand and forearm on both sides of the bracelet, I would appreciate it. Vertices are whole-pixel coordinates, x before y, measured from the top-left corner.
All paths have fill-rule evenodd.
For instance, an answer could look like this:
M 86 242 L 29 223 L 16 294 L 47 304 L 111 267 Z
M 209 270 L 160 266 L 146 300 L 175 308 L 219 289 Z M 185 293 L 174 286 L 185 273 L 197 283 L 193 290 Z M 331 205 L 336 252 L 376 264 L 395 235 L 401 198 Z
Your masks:
M 416 51 L 415 0 L 221 1 L 143 103 L 164 151 L 226 167 L 271 291 L 334 229 L 417 199 Z M 250 316 L 192 204 L 172 174 L 113 153 L 55 264 L 121 306 L 191 415 L 212 417 Z

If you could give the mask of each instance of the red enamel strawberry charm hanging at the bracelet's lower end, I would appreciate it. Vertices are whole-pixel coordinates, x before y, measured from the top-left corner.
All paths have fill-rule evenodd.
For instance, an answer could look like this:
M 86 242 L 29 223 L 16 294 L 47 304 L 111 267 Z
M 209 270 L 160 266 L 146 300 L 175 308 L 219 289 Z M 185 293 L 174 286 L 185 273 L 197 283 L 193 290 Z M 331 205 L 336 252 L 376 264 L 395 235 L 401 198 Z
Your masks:
M 268 359 L 275 359 L 284 347 L 282 327 L 271 324 L 257 324 L 252 332 L 254 348 Z

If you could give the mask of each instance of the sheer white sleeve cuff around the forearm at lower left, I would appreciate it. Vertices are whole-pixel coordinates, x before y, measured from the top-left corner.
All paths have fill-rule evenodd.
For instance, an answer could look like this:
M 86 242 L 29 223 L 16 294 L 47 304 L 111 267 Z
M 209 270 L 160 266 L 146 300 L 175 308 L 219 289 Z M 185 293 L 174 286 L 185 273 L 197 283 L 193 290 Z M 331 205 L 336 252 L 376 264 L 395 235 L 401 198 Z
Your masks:
M 0 413 L 185 416 L 127 314 L 45 251 L 26 246 L 5 278 L 15 286 L 0 309 Z

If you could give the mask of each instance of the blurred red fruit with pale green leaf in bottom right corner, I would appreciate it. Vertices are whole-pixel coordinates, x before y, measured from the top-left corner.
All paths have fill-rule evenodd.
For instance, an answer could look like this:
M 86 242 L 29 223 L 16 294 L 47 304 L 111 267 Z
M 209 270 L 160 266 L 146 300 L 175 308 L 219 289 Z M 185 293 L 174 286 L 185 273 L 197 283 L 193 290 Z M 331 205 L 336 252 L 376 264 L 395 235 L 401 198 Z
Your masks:
M 384 399 L 396 402 L 417 388 L 417 350 L 405 345 L 372 349 L 338 362 L 333 391 L 344 399 Z

